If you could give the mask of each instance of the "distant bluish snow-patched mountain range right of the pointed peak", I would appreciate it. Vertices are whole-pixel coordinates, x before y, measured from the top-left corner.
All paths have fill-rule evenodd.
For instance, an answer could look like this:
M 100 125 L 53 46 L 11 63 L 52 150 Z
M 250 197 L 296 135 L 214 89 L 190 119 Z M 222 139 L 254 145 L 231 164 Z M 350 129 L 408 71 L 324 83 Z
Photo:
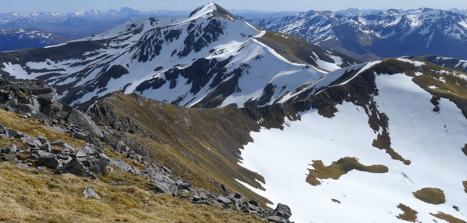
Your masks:
M 357 12 L 359 13 L 359 12 Z M 467 16 L 420 8 L 355 16 L 308 11 L 286 17 L 249 19 L 266 30 L 299 36 L 361 61 L 437 54 L 467 58 Z

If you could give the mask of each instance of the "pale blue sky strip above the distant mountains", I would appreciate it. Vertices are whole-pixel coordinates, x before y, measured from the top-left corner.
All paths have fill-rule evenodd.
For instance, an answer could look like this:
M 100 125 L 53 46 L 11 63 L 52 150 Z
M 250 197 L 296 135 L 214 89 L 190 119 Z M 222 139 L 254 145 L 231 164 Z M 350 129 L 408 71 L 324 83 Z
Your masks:
M 169 9 L 192 10 L 209 0 L 0 0 L 0 12 L 76 12 L 132 7 L 142 11 Z M 467 0 L 218 0 L 226 9 L 262 11 L 341 10 L 347 8 L 389 9 L 420 8 L 467 9 Z

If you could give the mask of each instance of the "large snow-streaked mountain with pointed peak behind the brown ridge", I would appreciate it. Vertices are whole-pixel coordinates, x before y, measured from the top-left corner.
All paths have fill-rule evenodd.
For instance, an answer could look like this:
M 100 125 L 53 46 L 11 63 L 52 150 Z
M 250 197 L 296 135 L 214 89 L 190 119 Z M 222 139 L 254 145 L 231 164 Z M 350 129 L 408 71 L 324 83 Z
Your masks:
M 72 105 L 121 90 L 190 107 L 262 106 L 353 64 L 214 3 L 188 17 L 132 20 L 66 44 L 0 53 L 2 76 L 47 81 Z

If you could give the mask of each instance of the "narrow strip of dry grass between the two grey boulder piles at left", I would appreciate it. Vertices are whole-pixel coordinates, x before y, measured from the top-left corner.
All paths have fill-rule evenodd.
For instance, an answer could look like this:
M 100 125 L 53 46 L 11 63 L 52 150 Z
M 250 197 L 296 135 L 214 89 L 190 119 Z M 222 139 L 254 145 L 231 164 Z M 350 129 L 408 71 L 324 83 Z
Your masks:
M 3 109 L 0 109 L 0 124 L 6 128 L 24 132 L 30 137 L 45 136 L 50 141 L 62 140 L 75 147 L 80 147 L 86 144 L 86 142 L 75 139 L 67 134 L 48 129 L 44 124 L 36 119 L 22 119 L 19 118 L 18 114 L 7 112 Z

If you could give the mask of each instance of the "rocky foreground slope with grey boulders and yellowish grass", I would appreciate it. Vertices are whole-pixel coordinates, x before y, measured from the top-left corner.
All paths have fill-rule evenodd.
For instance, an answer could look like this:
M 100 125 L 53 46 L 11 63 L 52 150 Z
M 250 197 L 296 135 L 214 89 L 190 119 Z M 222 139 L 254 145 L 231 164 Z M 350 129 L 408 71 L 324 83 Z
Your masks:
M 291 212 L 286 205 L 278 204 L 274 210 L 263 209 L 264 201 L 247 200 L 215 181 L 210 185 L 185 180 L 164 166 L 166 160 L 156 161 L 159 156 L 147 154 L 147 150 L 138 148 L 141 144 L 128 141 L 135 140 L 131 136 L 117 133 L 113 129 L 115 126 L 110 129 L 97 126 L 86 114 L 59 103 L 54 89 L 48 85 L 38 81 L 0 79 L 0 90 L 3 109 L 0 110 L 0 159 L 4 161 L 0 164 L 0 177 L 1 182 L 9 184 L 0 189 L 0 194 L 5 197 L 0 202 L 0 209 L 25 213 L 1 216 L 2 221 L 87 219 L 106 222 L 114 218 L 115 221 L 261 222 L 266 219 L 289 222 Z M 163 146 L 160 141 L 152 144 Z M 174 153 L 177 152 L 167 151 L 160 157 Z M 31 187 L 27 185 L 28 181 L 34 182 L 33 191 L 40 191 L 38 194 L 12 190 Z M 70 185 L 71 181 L 77 185 Z M 215 192 L 200 188 L 212 184 L 218 187 Z M 177 199 L 155 196 L 157 194 L 168 194 Z M 38 206 L 43 206 L 41 199 L 47 200 L 51 196 L 57 205 L 49 211 Z M 24 202 L 24 197 L 30 202 Z M 99 201 L 90 205 L 89 199 Z M 68 209 L 75 202 L 89 205 L 89 209 Z M 104 207 L 110 210 L 96 212 L 95 208 Z M 137 207 L 136 213 L 126 213 Z M 155 209 L 162 213 L 154 213 Z

